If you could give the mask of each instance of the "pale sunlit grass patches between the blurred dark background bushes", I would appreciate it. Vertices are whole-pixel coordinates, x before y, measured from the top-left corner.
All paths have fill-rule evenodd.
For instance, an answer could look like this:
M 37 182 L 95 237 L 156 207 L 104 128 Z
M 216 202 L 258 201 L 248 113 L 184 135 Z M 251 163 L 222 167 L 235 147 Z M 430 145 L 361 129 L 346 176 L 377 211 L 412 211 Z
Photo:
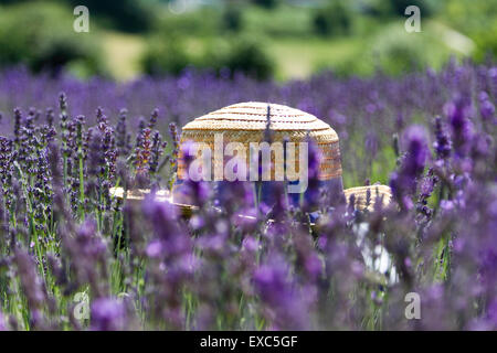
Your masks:
M 388 30 L 387 30 L 388 32 Z M 454 32 L 451 30 L 451 32 Z M 421 34 L 423 35 L 423 34 Z M 430 36 L 430 35 L 427 35 Z M 325 68 L 347 69 L 352 60 L 364 56 L 364 68 L 358 74 L 372 71 L 364 50 L 370 47 L 374 38 L 284 38 L 269 39 L 271 54 L 276 63 L 277 81 L 307 78 L 313 73 Z M 188 39 L 191 46 L 202 45 L 201 39 Z M 438 68 L 450 55 L 462 53 L 451 50 L 443 41 L 431 38 L 426 55 L 432 66 Z M 104 36 L 104 49 L 107 66 L 114 78 L 127 81 L 140 74 L 139 58 L 146 49 L 146 40 L 139 35 L 108 32 Z

